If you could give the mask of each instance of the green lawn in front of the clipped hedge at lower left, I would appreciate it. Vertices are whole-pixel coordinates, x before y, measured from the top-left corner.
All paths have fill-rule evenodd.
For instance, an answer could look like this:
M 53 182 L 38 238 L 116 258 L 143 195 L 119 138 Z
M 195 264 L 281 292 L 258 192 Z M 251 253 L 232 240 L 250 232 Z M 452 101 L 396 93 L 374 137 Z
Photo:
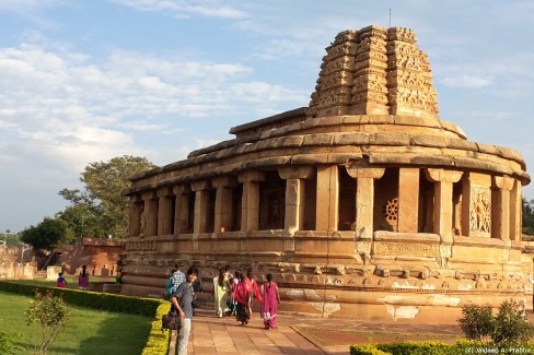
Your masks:
M 32 297 L 0 292 L 0 324 L 8 333 L 20 333 L 19 342 L 31 354 L 39 343 L 37 324 L 27 326 L 24 311 Z M 143 316 L 113 313 L 69 306 L 67 329 L 50 347 L 49 354 L 141 354 L 148 339 L 151 319 Z

